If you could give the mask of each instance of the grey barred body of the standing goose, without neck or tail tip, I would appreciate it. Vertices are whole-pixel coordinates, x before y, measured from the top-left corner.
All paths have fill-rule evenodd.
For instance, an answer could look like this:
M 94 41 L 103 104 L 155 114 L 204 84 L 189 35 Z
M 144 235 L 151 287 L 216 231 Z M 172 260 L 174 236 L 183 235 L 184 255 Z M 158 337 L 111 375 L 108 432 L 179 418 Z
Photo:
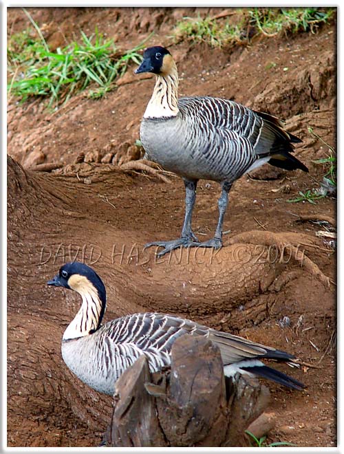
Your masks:
M 255 162 L 267 162 L 259 115 L 230 100 L 178 100 L 177 116 L 143 118 L 140 138 L 147 158 L 188 180 L 234 182 Z M 263 160 L 263 162 L 262 162 Z M 259 161 L 259 163 L 257 162 Z

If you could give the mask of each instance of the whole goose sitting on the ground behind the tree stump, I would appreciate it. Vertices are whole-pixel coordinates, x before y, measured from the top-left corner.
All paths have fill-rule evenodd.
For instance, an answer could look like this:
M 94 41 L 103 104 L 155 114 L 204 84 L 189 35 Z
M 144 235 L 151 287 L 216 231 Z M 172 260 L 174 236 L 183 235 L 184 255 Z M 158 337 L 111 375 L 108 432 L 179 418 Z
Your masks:
M 114 384 L 127 367 L 145 355 L 151 372 L 171 363 L 171 346 L 183 334 L 204 336 L 217 344 L 225 376 L 253 374 L 293 389 L 304 385 L 272 369 L 260 358 L 290 362 L 294 356 L 250 340 L 199 325 L 184 318 L 155 312 L 132 314 L 101 325 L 105 314 L 103 281 L 89 266 L 72 262 L 62 266 L 47 285 L 78 292 L 83 300 L 62 338 L 62 356 L 80 380 L 101 393 L 114 393 Z

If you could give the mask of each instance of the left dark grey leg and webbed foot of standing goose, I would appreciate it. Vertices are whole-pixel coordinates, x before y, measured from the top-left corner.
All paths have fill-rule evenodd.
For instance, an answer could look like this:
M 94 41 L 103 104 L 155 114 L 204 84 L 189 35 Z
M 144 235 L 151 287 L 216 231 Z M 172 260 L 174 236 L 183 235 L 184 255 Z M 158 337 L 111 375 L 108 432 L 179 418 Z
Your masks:
M 184 217 L 184 224 L 182 228 L 182 235 L 178 239 L 172 239 L 171 241 L 153 241 L 151 243 L 147 243 L 144 248 L 149 248 L 150 246 L 160 246 L 164 248 L 160 252 L 158 252 L 158 257 L 162 257 L 162 255 L 170 252 L 173 249 L 177 248 L 189 248 L 191 246 L 199 246 L 200 242 L 198 241 L 197 237 L 193 233 L 191 229 L 191 221 L 193 215 L 193 206 L 195 205 L 196 199 L 196 186 L 197 180 L 190 181 L 184 180 L 185 184 L 185 217 Z

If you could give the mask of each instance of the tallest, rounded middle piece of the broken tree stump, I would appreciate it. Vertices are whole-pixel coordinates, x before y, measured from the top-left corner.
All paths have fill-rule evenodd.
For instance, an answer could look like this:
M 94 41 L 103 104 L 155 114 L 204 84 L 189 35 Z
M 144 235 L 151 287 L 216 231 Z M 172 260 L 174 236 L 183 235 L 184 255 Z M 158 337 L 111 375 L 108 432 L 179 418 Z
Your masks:
M 157 409 L 171 446 L 219 446 L 226 435 L 226 388 L 216 345 L 198 336 L 178 338 L 166 394 Z

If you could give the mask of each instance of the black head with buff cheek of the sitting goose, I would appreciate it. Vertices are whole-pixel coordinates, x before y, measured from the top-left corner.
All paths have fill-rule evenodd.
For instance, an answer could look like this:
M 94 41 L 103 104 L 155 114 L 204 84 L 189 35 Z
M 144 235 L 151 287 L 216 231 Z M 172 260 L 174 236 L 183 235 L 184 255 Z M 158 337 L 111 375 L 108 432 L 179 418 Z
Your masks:
M 75 290 L 80 294 L 85 294 L 89 290 L 96 290 L 99 298 L 105 302 L 106 290 L 103 281 L 98 274 L 85 263 L 72 261 L 61 266 L 58 274 L 47 285 L 54 287 L 65 287 L 70 290 Z

